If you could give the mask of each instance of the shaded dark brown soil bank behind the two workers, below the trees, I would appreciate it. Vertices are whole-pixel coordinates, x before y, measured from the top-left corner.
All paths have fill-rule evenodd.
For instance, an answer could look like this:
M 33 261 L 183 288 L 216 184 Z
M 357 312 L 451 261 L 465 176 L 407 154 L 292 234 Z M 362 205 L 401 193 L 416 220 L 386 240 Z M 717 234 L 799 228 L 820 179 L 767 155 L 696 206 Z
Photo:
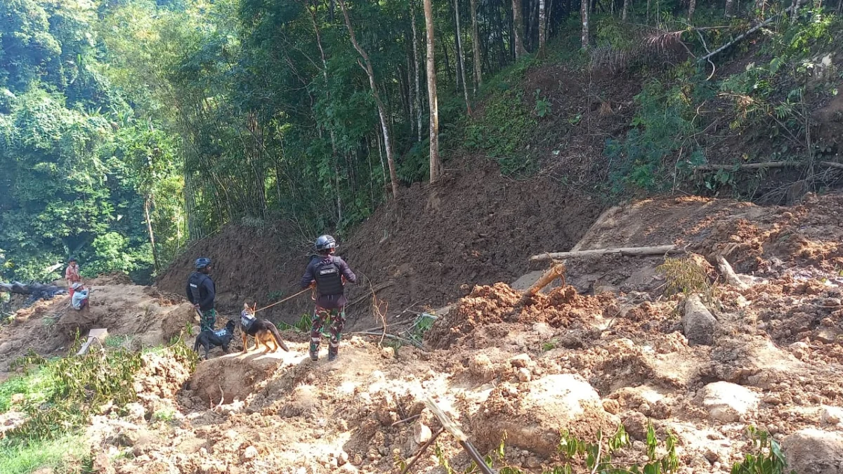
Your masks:
M 395 314 L 447 304 L 475 284 L 513 281 L 526 271 L 531 253 L 574 245 L 603 207 L 596 198 L 566 191 L 555 180 L 515 181 L 486 160 L 468 159 L 448 173 L 443 186 L 402 190 L 400 202 L 380 208 L 341 239 L 339 255 L 362 280 L 348 288 L 350 300 L 363 297 L 348 309 L 352 322 L 369 312 L 365 295 L 370 283 L 389 285 L 378 295 Z M 239 311 L 244 300 L 269 303 L 298 291 L 308 261 L 307 242 L 314 237 L 287 224 L 228 226 L 192 245 L 158 278 L 157 286 L 184 293 L 193 261 L 210 256 L 216 262 L 213 277 L 223 312 Z M 300 297 L 265 314 L 292 322 L 309 312 L 311 304 Z

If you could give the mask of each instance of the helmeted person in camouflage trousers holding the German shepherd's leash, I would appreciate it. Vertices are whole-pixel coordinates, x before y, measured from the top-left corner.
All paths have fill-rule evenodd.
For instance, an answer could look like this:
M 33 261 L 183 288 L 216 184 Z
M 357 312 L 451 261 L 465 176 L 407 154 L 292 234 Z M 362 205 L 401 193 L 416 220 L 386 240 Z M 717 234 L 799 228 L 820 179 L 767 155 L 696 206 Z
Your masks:
M 336 359 L 340 350 L 342 328 L 346 324 L 346 295 L 343 291 L 345 281 L 357 283 L 357 277 L 340 257 L 335 256 L 336 240 L 330 235 L 316 239 L 316 252 L 319 258 L 310 261 L 302 277 L 302 288 L 316 288 L 316 307 L 311 318 L 310 360 L 319 359 L 319 342 L 322 326 L 330 317 L 330 345 L 328 361 Z

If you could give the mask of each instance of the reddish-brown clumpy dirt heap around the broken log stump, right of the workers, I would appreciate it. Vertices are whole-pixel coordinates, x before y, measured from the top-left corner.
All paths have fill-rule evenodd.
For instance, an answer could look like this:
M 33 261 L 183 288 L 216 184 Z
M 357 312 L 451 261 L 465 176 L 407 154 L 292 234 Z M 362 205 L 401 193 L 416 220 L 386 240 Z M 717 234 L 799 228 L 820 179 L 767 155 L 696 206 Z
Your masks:
M 604 315 L 619 311 L 615 297 L 609 294 L 577 294 L 571 286 L 554 288 L 549 294 L 535 294 L 522 300 L 522 294 L 506 283 L 475 287 L 469 296 L 439 318 L 427 332 L 431 347 L 447 348 L 480 326 L 503 322 L 547 323 L 550 327 L 593 326 Z

